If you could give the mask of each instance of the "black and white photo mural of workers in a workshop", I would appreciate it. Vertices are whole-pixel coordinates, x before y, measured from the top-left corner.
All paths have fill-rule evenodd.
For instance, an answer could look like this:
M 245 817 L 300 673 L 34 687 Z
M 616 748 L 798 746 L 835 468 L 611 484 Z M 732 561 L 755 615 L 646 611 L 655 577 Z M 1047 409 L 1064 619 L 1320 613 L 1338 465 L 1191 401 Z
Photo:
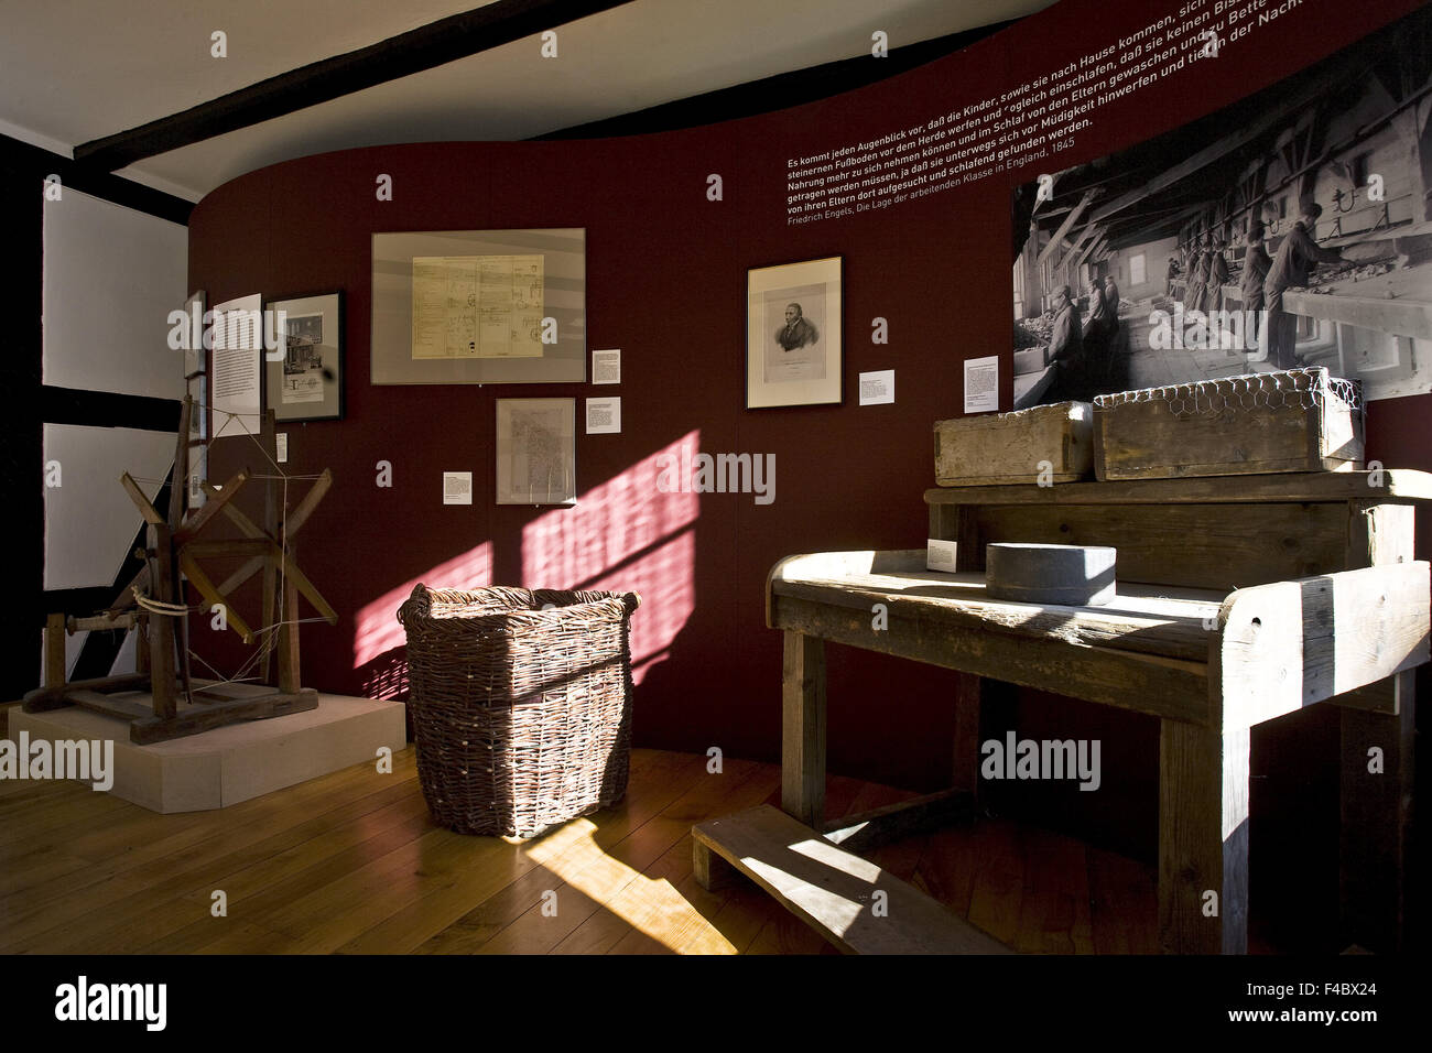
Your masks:
M 1326 367 L 1432 391 L 1432 10 L 1015 189 L 1014 408 Z

